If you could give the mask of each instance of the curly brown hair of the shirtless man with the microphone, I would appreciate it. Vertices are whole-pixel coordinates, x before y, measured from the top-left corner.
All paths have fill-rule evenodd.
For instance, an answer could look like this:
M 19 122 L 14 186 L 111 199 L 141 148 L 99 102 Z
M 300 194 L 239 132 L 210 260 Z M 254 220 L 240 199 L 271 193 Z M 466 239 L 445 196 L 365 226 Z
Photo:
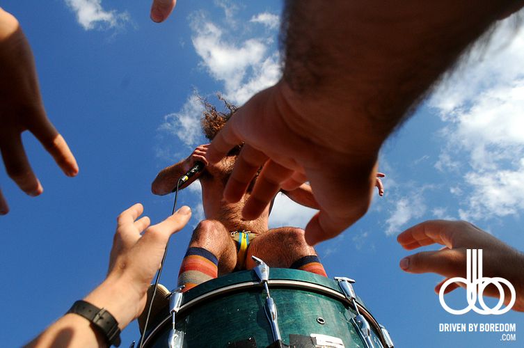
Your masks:
M 207 102 L 206 98 L 200 97 L 197 95 L 198 99 L 204 104 L 204 111 L 202 112 L 202 118 L 200 118 L 200 126 L 202 127 L 202 132 L 204 133 L 205 137 L 212 141 L 216 134 L 219 133 L 220 129 L 224 127 L 225 122 L 228 122 L 228 120 L 231 118 L 233 113 L 235 113 L 238 110 L 238 106 L 228 103 L 220 94 L 219 94 L 219 100 L 224 102 L 225 109 L 228 111 L 220 112 L 216 111 L 216 107 L 212 104 L 209 104 Z M 238 144 L 233 148 L 229 153 L 228 156 L 236 156 L 239 154 L 242 145 L 244 143 Z

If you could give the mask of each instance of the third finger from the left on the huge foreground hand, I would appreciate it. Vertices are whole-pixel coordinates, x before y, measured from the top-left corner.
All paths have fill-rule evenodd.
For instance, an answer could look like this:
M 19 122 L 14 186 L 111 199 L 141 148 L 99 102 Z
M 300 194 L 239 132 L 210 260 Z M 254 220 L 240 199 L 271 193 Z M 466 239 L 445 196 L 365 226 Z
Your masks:
M 282 183 L 291 177 L 292 173 L 292 170 L 280 166 L 271 159 L 267 161 L 257 177 L 251 196 L 242 209 L 244 219 L 257 219 L 280 191 Z

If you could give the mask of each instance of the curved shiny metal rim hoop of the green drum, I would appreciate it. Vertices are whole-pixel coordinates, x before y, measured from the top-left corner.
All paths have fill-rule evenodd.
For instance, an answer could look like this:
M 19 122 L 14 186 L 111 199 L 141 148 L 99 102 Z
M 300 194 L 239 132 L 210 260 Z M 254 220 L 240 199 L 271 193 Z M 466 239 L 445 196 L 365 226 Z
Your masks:
M 334 299 L 338 299 L 346 303 L 347 305 L 349 305 L 349 307 L 355 309 L 353 303 L 349 301 L 349 299 L 347 299 L 346 296 L 344 296 L 344 294 L 342 294 L 341 292 L 335 291 L 331 289 L 330 287 L 326 287 L 324 285 L 319 285 L 316 283 L 308 283 L 303 280 L 291 280 L 291 279 L 269 279 L 267 283 L 268 283 L 269 288 L 287 285 L 289 287 L 294 287 L 294 288 L 302 288 L 302 289 L 307 288 L 308 290 L 316 290 L 315 292 L 319 292 L 320 294 L 327 294 L 328 296 L 331 296 Z M 262 284 L 257 281 L 246 281 L 243 283 L 237 283 L 237 284 L 232 284 L 232 285 L 228 285 L 225 287 L 220 287 L 219 289 L 212 290 L 210 292 L 206 292 L 205 294 L 202 294 L 194 299 L 191 299 L 191 301 L 184 303 L 182 306 L 180 306 L 180 310 L 178 310 L 178 313 L 184 313 L 186 310 L 189 310 L 189 308 L 196 306 L 198 303 L 203 302 L 207 299 L 212 299 L 221 294 L 225 294 L 228 292 L 234 292 L 234 291 L 237 291 L 239 289 L 244 289 L 244 288 L 250 289 L 252 287 L 262 287 L 262 289 L 264 288 Z M 384 345 L 386 340 L 385 338 L 383 338 L 383 333 L 382 333 L 380 324 L 376 322 L 375 318 L 370 313 L 370 311 L 368 311 L 362 304 L 358 303 L 357 301 L 355 303 L 356 303 L 356 306 L 360 314 L 362 314 L 368 321 L 370 321 L 370 324 L 374 326 L 376 333 L 379 335 L 379 338 L 381 339 L 383 347 L 386 347 L 386 345 Z M 154 326 L 154 328 L 148 334 L 148 337 L 145 338 L 143 346 L 145 347 L 146 345 L 148 345 L 149 341 L 157 334 L 157 331 L 160 331 L 160 329 L 164 325 L 171 324 L 171 319 L 172 319 L 172 316 L 168 315 L 164 319 L 162 319 L 161 322 L 157 324 L 157 326 Z

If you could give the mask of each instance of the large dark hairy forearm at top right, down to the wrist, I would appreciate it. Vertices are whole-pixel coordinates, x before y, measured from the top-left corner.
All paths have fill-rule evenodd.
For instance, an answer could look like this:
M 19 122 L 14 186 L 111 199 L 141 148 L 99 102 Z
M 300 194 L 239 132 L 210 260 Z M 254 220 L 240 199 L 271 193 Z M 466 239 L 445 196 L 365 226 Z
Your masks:
M 362 140 L 380 146 L 468 45 L 522 5 L 288 0 L 283 79 L 301 102 L 351 116 L 369 133 Z

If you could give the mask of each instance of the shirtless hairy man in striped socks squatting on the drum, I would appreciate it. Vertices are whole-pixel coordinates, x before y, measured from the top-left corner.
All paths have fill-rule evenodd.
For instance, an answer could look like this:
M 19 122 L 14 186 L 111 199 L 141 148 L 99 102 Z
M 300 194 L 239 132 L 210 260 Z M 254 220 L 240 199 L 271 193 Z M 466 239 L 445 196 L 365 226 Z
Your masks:
M 237 110 L 235 106 L 227 102 L 225 104 L 231 111 L 228 115 L 217 113 L 214 107 L 205 103 L 202 126 L 210 141 Z M 154 194 L 171 193 L 177 180 L 197 161 L 205 164 L 203 171 L 196 173 L 180 187 L 184 189 L 191 182 L 200 180 L 205 220 L 193 231 L 189 248 L 182 260 L 178 285 L 185 285 L 186 291 L 235 270 L 253 269 L 256 264 L 251 255 L 264 260 L 269 267 L 302 269 L 326 276 L 315 249 L 305 242 L 304 230 L 293 227 L 269 229 L 268 219 L 274 197 L 269 198 L 271 202 L 257 219 L 246 220 L 242 217 L 242 209 L 251 196 L 256 177 L 241 200 L 228 203 L 224 199 L 225 184 L 235 166 L 241 146 L 231 150 L 216 164 L 209 164 L 205 158 L 208 146 L 209 144 L 198 146 L 189 157 L 162 170 L 152 183 Z M 378 177 L 376 186 L 382 195 L 383 187 Z M 293 191 L 280 191 L 300 205 L 319 208 L 308 184 L 301 184 Z

